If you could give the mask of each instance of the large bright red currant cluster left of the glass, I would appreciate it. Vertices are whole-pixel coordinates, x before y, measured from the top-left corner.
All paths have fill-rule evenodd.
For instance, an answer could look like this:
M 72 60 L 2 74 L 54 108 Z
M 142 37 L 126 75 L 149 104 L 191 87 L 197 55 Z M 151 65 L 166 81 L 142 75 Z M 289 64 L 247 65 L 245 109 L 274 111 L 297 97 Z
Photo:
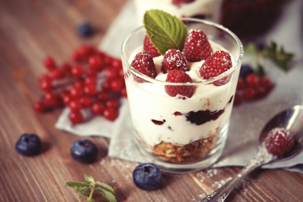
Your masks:
M 127 96 L 121 60 L 88 45 L 77 47 L 71 60 L 58 66 L 52 57 L 45 58 L 48 71 L 39 78 L 44 96 L 34 109 L 45 112 L 66 106 L 73 124 L 85 121 L 83 110 L 87 109 L 92 116 L 114 121 L 120 98 Z

